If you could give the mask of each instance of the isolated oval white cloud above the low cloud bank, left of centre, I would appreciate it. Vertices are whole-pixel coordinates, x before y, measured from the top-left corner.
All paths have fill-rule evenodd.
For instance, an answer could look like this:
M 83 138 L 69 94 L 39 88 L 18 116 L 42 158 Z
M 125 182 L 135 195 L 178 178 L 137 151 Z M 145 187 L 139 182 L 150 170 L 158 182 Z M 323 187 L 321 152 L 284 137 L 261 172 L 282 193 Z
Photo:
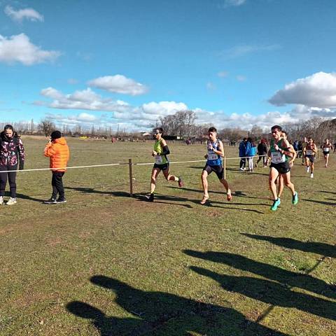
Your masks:
M 148 92 L 148 88 L 145 85 L 137 83 L 132 78 L 127 78 L 123 75 L 95 78 L 89 80 L 87 85 L 109 92 L 131 94 L 132 96 Z

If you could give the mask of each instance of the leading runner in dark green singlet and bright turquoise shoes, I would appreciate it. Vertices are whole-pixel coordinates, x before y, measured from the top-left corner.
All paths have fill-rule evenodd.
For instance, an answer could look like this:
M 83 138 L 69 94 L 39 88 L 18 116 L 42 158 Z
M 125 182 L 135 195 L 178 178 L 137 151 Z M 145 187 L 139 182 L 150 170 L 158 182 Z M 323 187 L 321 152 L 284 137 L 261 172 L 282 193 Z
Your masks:
M 273 195 L 272 211 L 280 205 L 280 198 L 277 195 L 275 181 L 279 175 L 283 176 L 283 183 L 288 187 L 292 193 L 292 204 L 297 204 L 298 197 L 295 192 L 293 183 L 290 182 L 290 167 L 288 158 L 293 157 L 290 151 L 289 143 L 286 139 L 281 138 L 281 127 L 274 125 L 271 129 L 273 139 L 270 142 L 268 156 L 271 158 L 271 165 L 269 170 L 269 188 Z

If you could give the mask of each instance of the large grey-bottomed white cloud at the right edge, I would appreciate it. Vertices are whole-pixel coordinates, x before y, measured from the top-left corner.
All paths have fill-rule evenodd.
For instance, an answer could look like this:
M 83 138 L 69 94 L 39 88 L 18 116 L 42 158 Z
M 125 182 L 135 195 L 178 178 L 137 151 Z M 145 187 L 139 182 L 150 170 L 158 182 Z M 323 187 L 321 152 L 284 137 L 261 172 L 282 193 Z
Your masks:
M 271 104 L 301 104 L 320 109 L 336 107 L 336 73 L 318 72 L 285 85 L 269 99 Z

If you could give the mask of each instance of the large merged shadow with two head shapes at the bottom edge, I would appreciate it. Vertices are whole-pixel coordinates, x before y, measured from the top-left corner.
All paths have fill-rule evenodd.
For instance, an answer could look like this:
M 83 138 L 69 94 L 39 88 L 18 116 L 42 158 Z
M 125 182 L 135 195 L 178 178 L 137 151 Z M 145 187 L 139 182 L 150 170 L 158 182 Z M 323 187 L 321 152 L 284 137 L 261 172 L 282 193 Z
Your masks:
M 161 291 L 134 288 L 107 276 L 92 276 L 90 281 L 112 290 L 115 302 L 132 317 L 106 316 L 85 302 L 73 301 L 66 309 L 92 321 L 101 335 L 286 335 L 248 320 L 239 311 L 207 304 Z M 103 292 L 104 293 L 104 292 Z M 110 300 L 110 299 L 109 299 Z

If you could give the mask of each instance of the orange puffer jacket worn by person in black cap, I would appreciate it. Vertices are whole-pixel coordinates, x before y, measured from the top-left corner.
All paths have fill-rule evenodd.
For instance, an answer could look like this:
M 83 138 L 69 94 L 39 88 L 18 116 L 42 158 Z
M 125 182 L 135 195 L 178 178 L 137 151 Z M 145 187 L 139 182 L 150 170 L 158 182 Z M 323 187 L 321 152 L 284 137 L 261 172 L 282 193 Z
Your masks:
M 60 168 L 53 169 L 54 172 L 66 171 L 64 167 L 68 164 L 70 151 L 63 137 L 52 140 L 52 142 L 46 144 L 44 155 L 50 158 L 50 168 Z

